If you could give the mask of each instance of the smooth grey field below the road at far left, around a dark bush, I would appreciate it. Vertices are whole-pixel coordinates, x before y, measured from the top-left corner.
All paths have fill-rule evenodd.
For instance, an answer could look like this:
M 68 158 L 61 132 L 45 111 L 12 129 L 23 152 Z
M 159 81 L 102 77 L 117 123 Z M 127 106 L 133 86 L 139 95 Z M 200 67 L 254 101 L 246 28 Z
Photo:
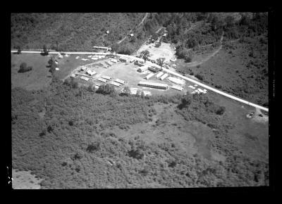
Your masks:
M 13 87 L 23 87 L 25 89 L 42 89 L 51 82 L 51 73 L 48 65 L 49 57 L 39 54 L 12 54 L 11 55 L 11 82 Z M 21 63 L 32 66 L 32 70 L 19 73 Z

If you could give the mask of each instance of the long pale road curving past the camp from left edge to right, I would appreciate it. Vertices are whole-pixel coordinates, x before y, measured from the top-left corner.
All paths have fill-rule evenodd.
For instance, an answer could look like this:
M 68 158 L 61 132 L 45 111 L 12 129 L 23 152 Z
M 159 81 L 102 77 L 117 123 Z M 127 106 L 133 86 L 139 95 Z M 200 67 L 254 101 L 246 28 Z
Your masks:
M 16 52 L 18 52 L 18 51 L 11 51 L 11 52 L 12 52 L 12 53 L 16 53 Z M 41 53 L 41 51 L 22 51 L 22 53 Z M 57 53 L 59 53 L 59 52 L 53 51 L 53 52 L 49 52 L 49 53 L 51 53 L 51 54 L 57 54 Z M 109 54 L 109 53 L 97 53 L 97 52 L 63 52 L 63 53 L 66 53 L 66 54 L 99 54 L 99 55 L 108 55 L 108 54 Z M 133 58 L 133 59 L 135 59 L 135 60 L 140 60 L 140 58 L 137 58 L 137 57 L 135 57 L 135 56 L 128 56 L 128 55 L 122 55 L 122 54 L 117 54 L 117 56 L 123 56 L 123 57 L 127 57 L 127 58 Z M 151 63 L 151 62 L 149 62 L 149 61 L 146 61 L 146 64 L 147 64 L 147 65 L 154 65 L 154 66 L 157 66 L 158 68 L 160 68 L 159 65 L 154 64 L 154 63 Z M 259 105 L 255 104 L 255 103 L 250 103 L 249 101 L 245 101 L 245 100 L 243 100 L 242 98 L 238 98 L 238 97 L 236 97 L 236 96 L 232 96 L 231 94 L 227 94 L 227 93 L 225 93 L 225 92 L 223 92 L 223 91 L 220 91 L 220 90 L 218 90 L 218 89 L 214 89 L 213 87 L 209 87 L 209 86 L 207 86 L 206 84 L 202 84 L 201 82 L 198 82 L 198 81 L 195 80 L 195 79 L 190 79 L 190 78 L 188 78 L 188 77 L 185 77 L 185 76 L 183 76 L 183 75 L 180 75 L 180 74 L 178 74 L 177 72 L 173 72 L 173 71 L 168 70 L 168 69 L 166 69 L 166 68 L 162 68 L 162 69 L 163 69 L 165 72 L 170 73 L 171 75 L 176 75 L 177 77 L 181 77 L 181 78 L 183 78 L 183 79 L 185 79 L 185 80 L 187 80 L 187 81 L 189 81 L 189 82 L 192 82 L 192 83 L 194 83 L 194 84 L 198 84 L 199 86 L 204 87 L 204 88 L 206 88 L 206 89 L 209 89 L 210 91 L 214 91 L 214 92 L 216 92 L 217 94 L 221 94 L 221 95 L 226 96 L 226 97 L 228 97 L 228 98 L 232 98 L 232 99 L 235 100 L 235 101 L 239 101 L 239 102 L 245 103 L 245 104 L 247 104 L 247 105 L 249 105 L 249 106 L 252 106 L 252 107 L 255 107 L 255 108 L 259 108 L 259 109 L 261 109 L 261 110 L 264 110 L 264 111 L 266 111 L 266 112 L 269 112 L 269 108 L 264 108 L 263 106 L 259 106 Z

